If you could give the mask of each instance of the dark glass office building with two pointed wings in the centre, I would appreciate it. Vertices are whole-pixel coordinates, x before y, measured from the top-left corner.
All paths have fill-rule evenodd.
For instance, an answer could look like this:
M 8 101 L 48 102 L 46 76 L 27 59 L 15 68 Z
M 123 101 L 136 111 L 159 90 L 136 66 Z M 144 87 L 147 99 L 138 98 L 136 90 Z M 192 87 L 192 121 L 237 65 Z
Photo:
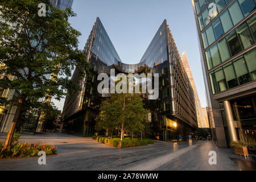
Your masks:
M 193 135 L 197 128 L 193 89 L 166 20 L 138 64 L 122 63 L 99 18 L 94 23 L 84 53 L 91 65 L 91 74 L 80 78 L 78 69 L 73 73 L 72 80 L 80 84 L 81 92 L 69 93 L 65 99 L 65 131 L 83 137 L 95 133 L 95 118 L 100 111 L 101 101 L 109 97 L 97 92 L 100 82 L 97 77 L 100 73 L 110 75 L 110 69 L 114 69 L 115 75 L 134 73 L 140 84 L 143 79 L 135 76 L 135 73 L 159 73 L 158 99 L 148 100 L 148 93 L 141 94 L 144 107 L 150 110 L 147 116 L 152 129 L 148 134 L 150 137 L 168 141 L 187 140 L 188 135 Z

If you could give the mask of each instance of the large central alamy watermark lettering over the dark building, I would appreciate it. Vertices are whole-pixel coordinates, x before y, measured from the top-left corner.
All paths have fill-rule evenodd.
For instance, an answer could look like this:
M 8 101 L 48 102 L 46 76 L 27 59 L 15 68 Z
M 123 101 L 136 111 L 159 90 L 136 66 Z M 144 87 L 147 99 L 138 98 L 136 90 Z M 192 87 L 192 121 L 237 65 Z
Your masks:
M 154 75 L 154 77 L 153 77 Z M 115 69 L 110 69 L 110 77 L 106 73 L 100 73 L 97 78 L 101 81 L 98 84 L 98 93 L 109 94 L 109 93 L 142 93 L 148 94 L 148 100 L 157 100 L 159 97 L 159 74 L 158 73 L 119 73 L 115 76 Z M 154 88 L 152 85 L 154 80 Z M 117 84 L 115 84 L 117 82 Z M 110 86 L 109 86 L 110 84 Z

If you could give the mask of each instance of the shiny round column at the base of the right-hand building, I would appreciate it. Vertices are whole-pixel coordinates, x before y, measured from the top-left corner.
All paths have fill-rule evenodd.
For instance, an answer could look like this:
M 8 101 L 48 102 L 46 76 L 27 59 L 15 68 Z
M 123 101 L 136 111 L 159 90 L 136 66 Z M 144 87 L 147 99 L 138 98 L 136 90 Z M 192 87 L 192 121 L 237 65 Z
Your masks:
M 226 114 L 226 122 L 228 125 L 230 142 L 237 141 L 237 131 L 236 131 L 236 128 L 234 127 L 234 118 L 233 118 L 230 102 L 224 101 L 223 105 L 224 105 L 225 114 Z

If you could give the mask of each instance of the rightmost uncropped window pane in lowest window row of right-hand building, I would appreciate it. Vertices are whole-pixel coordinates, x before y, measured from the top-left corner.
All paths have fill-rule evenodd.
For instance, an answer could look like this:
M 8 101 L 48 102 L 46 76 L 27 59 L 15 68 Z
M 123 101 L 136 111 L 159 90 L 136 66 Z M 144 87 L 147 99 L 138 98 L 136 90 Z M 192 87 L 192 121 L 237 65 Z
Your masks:
M 240 84 L 246 84 L 251 81 L 250 74 L 248 73 L 245 60 L 243 57 L 241 59 L 234 61 L 234 68 L 237 73 L 237 78 Z

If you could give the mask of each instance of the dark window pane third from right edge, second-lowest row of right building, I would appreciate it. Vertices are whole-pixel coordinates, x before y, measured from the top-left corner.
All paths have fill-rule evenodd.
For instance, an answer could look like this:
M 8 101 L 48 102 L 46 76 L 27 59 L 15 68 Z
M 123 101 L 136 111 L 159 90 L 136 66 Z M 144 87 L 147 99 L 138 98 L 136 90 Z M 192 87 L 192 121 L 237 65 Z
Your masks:
M 229 45 L 229 49 L 230 49 L 230 52 L 231 52 L 231 55 L 234 56 L 236 55 L 237 53 L 241 52 L 242 51 L 242 47 L 240 45 L 240 42 L 238 40 L 238 37 L 237 37 L 237 34 L 236 34 L 236 31 L 232 31 L 230 32 L 227 36 L 226 36 L 226 40 L 228 42 L 228 45 Z

